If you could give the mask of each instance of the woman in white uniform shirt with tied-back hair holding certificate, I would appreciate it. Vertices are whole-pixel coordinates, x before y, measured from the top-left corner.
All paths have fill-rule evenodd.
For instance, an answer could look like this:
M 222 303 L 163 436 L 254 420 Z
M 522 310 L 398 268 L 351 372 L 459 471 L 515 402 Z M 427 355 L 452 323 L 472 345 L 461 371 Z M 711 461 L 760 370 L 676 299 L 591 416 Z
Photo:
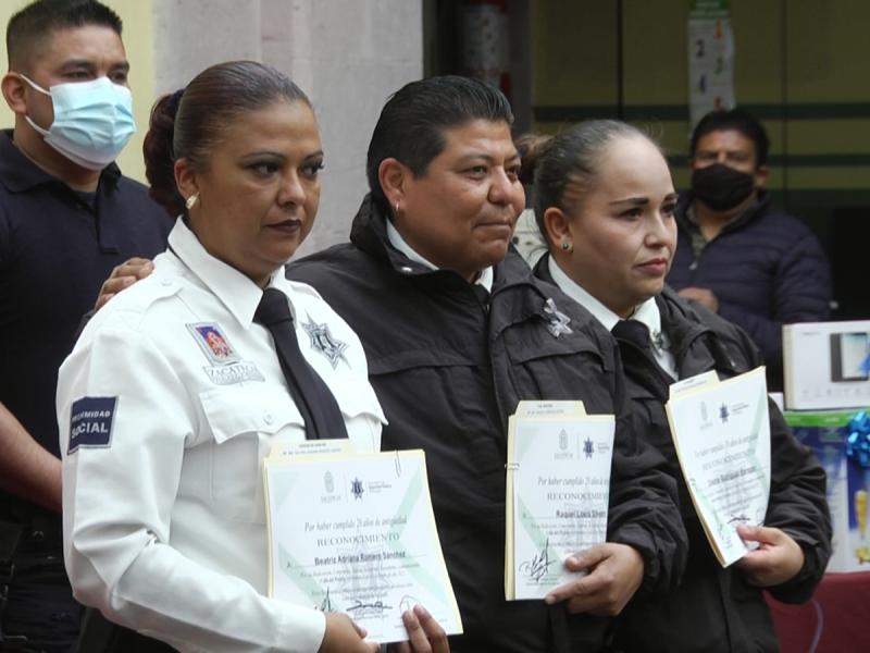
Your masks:
M 384 420 L 356 334 L 284 275 L 320 199 L 310 102 L 269 66 L 215 65 L 156 104 L 145 151 L 151 196 L 178 215 L 169 251 L 91 320 L 60 372 L 75 595 L 141 633 L 124 651 L 165 648 L 142 636 L 212 653 L 374 651 L 345 615 L 266 597 L 260 466 L 306 424 L 253 321 L 264 288 L 286 296 L 358 452 L 380 448 Z

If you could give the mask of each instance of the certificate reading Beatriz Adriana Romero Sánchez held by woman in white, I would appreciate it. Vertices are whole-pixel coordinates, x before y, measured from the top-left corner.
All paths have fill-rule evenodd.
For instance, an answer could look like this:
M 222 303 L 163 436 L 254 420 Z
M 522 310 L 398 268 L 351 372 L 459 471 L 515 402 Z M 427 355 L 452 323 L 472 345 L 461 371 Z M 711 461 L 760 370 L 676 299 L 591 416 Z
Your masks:
M 422 451 L 276 454 L 263 473 L 270 596 L 347 613 L 382 643 L 408 639 L 401 614 L 417 603 L 462 632 Z

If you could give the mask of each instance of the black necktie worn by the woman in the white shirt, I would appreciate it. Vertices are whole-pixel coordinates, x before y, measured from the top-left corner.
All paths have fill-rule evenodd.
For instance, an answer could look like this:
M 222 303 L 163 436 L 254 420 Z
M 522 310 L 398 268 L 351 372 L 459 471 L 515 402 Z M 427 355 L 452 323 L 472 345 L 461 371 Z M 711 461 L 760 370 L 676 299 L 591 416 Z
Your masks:
M 335 396 L 299 349 L 287 296 L 275 288 L 263 291 L 253 321 L 269 329 L 275 341 L 281 369 L 306 422 L 306 439 L 347 438 L 345 418 Z

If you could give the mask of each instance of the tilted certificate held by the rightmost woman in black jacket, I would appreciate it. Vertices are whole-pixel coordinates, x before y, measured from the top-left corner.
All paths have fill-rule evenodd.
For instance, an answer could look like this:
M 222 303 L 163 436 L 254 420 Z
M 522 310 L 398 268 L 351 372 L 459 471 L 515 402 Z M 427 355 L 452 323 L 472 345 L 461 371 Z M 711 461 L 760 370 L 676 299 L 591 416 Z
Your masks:
M 698 382 L 700 380 L 700 383 Z M 770 416 L 765 368 L 671 386 L 668 420 L 695 510 L 723 567 L 755 549 L 737 526 L 765 522 L 770 496 Z

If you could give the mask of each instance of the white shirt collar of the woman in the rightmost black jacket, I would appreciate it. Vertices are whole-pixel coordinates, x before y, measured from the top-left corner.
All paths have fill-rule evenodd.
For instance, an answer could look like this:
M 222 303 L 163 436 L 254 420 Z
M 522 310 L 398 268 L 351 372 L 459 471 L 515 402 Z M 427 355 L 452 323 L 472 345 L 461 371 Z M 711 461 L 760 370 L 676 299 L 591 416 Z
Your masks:
M 573 279 L 568 276 L 561 268 L 550 257 L 548 268 L 552 280 L 556 285 L 574 301 L 588 310 L 608 331 L 612 331 L 613 326 L 621 318 L 612 310 L 607 308 L 604 304 L 593 297 L 586 289 L 577 284 Z M 676 361 L 671 353 L 671 343 L 667 334 L 661 329 L 661 311 L 659 305 L 656 304 L 656 298 L 650 297 L 643 304 L 634 307 L 634 312 L 629 318 L 630 320 L 637 320 L 646 325 L 649 330 L 652 345 L 652 356 L 659 367 L 674 381 L 680 380 L 680 374 L 676 372 Z

